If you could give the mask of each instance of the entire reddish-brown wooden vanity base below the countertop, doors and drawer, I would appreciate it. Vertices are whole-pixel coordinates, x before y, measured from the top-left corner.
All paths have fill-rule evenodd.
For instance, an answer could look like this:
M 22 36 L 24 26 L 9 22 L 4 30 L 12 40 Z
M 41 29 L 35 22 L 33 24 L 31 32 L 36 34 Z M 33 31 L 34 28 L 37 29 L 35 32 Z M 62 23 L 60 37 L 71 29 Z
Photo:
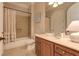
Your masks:
M 37 36 L 35 37 L 35 49 L 37 56 L 79 56 L 79 51 Z

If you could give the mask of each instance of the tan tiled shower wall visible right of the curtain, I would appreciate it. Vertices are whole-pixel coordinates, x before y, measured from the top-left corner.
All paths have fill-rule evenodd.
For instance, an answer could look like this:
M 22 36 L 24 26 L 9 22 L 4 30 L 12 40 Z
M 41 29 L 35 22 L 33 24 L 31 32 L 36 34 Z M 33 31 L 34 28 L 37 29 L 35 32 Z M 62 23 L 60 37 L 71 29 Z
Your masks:
M 16 16 L 16 37 L 28 36 L 28 16 L 17 15 Z

